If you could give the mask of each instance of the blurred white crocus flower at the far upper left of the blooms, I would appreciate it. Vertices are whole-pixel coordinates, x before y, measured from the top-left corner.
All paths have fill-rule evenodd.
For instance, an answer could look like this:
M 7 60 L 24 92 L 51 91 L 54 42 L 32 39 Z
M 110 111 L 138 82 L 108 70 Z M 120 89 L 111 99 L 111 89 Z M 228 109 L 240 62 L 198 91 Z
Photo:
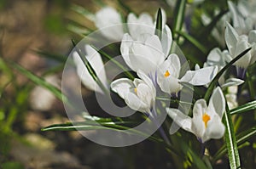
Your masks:
M 112 7 L 105 7 L 96 12 L 95 25 L 102 35 L 110 40 L 120 41 L 124 36 L 122 18 L 118 11 Z

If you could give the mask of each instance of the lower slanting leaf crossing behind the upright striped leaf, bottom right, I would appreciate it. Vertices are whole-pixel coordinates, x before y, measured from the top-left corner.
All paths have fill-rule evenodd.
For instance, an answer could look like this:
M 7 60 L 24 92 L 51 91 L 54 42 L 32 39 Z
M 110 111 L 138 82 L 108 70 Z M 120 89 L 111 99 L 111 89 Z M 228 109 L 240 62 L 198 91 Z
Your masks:
M 256 136 L 256 127 L 253 127 L 245 132 L 241 132 L 239 135 L 236 136 L 236 144 L 240 146 L 241 144 L 247 142 L 248 139 L 253 138 Z M 218 152 L 212 157 L 213 163 L 218 161 L 223 155 L 227 153 L 226 145 L 223 145 Z

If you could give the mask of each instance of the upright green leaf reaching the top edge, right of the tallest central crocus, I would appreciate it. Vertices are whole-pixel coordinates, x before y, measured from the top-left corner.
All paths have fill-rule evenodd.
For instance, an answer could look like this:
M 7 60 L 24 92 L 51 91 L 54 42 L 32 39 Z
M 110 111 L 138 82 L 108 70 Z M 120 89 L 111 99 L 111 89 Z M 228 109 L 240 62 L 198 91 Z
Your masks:
M 186 0 L 180 0 L 177 1 L 176 5 L 175 5 L 175 9 L 174 9 L 174 14 L 173 16 L 175 16 L 174 19 L 174 38 L 177 39 L 177 43 L 178 43 L 178 39 L 179 36 L 177 34 L 178 31 L 182 30 L 183 27 L 183 20 L 184 20 L 184 14 L 185 14 L 185 7 L 186 7 Z

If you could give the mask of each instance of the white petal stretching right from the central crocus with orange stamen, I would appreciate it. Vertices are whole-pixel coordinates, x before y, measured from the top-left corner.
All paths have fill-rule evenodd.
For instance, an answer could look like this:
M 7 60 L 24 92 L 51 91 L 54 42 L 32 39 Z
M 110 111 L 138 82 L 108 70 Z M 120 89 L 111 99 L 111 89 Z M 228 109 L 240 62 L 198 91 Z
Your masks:
M 200 70 L 188 70 L 181 82 L 189 82 L 194 86 L 202 86 L 211 82 L 218 72 L 218 66 L 209 66 Z

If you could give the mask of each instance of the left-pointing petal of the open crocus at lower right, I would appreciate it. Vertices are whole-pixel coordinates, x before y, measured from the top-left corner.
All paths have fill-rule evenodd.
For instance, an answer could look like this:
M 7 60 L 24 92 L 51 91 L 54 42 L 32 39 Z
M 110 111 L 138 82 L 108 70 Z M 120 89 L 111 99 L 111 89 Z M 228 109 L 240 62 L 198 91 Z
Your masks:
M 167 114 L 177 123 L 178 126 L 182 127 L 188 132 L 191 131 L 191 118 L 188 115 L 184 115 L 183 112 L 177 109 L 166 108 Z

